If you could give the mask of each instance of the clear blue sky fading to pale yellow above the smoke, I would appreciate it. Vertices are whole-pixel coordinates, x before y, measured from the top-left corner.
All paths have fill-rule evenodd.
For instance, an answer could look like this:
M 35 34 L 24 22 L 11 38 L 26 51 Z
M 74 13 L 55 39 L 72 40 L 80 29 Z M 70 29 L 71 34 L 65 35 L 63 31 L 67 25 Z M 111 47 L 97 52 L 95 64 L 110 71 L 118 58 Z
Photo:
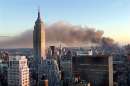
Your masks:
M 130 0 L 0 0 L 0 36 L 33 28 L 39 7 L 46 25 L 64 21 L 92 27 L 130 43 Z

